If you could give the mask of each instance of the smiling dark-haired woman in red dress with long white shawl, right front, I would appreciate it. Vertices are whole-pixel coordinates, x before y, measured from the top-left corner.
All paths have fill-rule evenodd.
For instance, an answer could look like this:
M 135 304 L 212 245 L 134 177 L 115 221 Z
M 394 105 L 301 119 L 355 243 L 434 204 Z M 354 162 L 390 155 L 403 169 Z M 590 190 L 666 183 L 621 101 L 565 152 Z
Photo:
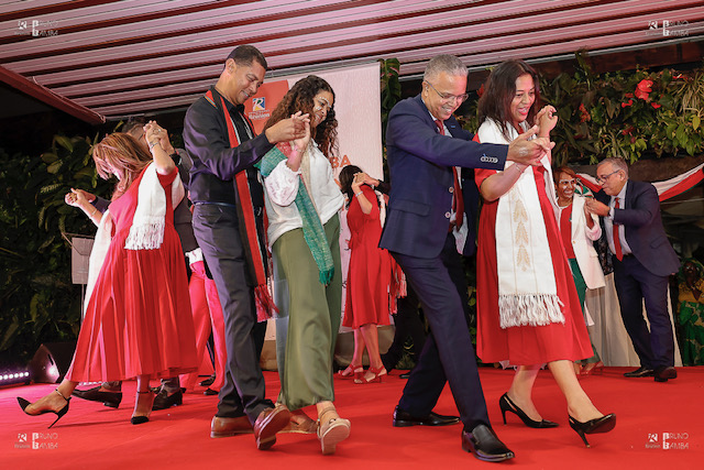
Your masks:
M 549 138 L 557 112 L 540 100 L 538 76 L 522 61 L 494 68 L 479 102 L 484 143 L 509 143 L 528 131 Z M 550 155 L 542 166 L 507 163 L 503 172 L 475 170 L 484 198 L 477 250 L 477 353 L 484 362 L 516 365 L 510 389 L 499 400 L 529 427 L 556 427 L 542 419 L 532 385 L 543 363 L 568 401 L 570 426 L 588 446 L 585 434 L 614 428 L 582 390 L 572 362 L 592 356 L 574 281 L 559 236 L 551 198 Z

